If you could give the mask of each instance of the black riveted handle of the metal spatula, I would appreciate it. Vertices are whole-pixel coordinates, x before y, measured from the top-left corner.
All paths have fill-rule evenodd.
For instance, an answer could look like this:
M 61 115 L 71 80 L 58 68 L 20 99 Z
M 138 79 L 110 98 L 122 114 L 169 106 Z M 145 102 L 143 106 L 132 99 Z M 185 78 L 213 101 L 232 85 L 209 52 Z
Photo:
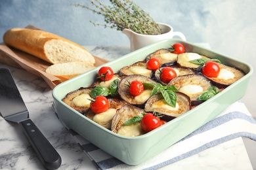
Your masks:
M 19 124 L 43 165 L 47 169 L 58 169 L 61 165 L 60 155 L 32 120 L 27 119 Z

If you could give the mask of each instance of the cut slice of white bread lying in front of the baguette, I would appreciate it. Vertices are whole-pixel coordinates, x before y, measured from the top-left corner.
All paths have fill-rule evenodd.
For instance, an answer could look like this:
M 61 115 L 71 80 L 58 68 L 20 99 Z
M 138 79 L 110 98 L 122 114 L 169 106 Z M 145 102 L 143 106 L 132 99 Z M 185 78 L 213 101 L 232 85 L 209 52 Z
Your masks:
M 53 64 L 45 72 L 60 78 L 64 82 L 93 68 L 95 68 L 94 65 L 85 62 L 68 62 Z

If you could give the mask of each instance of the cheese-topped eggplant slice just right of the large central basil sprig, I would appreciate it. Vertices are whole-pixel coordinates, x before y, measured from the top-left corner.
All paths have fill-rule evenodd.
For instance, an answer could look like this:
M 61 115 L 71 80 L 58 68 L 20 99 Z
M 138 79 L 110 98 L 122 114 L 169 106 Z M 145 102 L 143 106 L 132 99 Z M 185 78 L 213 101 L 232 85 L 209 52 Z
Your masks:
M 202 75 L 177 76 L 168 83 L 168 86 L 171 85 L 174 85 L 179 92 L 188 95 L 192 102 L 197 101 L 199 95 L 212 86 L 211 81 Z

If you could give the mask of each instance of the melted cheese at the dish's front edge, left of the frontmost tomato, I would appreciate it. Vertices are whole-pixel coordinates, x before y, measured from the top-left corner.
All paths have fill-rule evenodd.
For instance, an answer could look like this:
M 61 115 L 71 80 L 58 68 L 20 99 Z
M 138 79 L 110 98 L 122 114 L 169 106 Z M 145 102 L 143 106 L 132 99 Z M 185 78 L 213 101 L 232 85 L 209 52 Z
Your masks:
M 126 137 L 136 137 L 141 135 L 142 127 L 140 122 L 135 122 L 134 124 L 121 126 L 117 131 L 117 134 L 126 136 Z

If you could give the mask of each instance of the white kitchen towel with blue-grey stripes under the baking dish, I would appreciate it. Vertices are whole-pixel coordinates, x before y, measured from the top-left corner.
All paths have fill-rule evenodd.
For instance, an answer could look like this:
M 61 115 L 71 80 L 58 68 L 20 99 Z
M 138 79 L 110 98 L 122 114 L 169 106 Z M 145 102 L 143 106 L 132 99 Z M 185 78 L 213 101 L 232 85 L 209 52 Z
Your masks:
M 68 129 L 68 127 L 66 128 Z M 248 137 L 256 141 L 256 121 L 244 103 L 240 101 L 230 105 L 215 119 L 190 133 L 181 141 L 136 166 L 130 166 L 117 160 L 117 158 L 83 139 L 72 129 L 68 129 L 68 131 L 98 169 L 158 169 L 236 137 Z

